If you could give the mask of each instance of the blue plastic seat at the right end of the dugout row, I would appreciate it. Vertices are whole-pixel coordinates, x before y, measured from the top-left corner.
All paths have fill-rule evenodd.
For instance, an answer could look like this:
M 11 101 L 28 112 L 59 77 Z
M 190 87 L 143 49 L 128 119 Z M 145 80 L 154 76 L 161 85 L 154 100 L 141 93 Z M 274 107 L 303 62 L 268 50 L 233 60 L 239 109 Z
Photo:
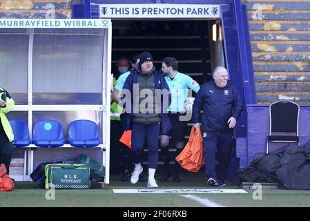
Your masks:
M 87 119 L 78 119 L 69 124 L 68 143 L 71 146 L 90 147 L 100 144 L 97 124 Z

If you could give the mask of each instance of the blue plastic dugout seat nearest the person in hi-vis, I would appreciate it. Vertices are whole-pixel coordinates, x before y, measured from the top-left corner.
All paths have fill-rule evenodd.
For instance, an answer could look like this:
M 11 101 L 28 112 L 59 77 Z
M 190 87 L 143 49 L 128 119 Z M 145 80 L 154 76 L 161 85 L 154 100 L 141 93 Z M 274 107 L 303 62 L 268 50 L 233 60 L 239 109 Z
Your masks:
M 14 147 L 28 146 L 30 141 L 28 125 L 20 119 L 10 120 L 10 125 L 14 133 Z

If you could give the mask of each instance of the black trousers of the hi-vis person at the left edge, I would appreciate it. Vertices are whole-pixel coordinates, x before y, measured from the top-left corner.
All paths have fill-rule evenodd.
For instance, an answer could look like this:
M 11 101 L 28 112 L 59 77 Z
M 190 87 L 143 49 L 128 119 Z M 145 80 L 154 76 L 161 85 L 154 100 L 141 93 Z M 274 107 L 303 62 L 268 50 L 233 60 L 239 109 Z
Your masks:
M 6 165 L 9 173 L 10 163 L 12 160 L 14 146 L 8 141 L 6 134 L 0 133 L 0 164 Z

